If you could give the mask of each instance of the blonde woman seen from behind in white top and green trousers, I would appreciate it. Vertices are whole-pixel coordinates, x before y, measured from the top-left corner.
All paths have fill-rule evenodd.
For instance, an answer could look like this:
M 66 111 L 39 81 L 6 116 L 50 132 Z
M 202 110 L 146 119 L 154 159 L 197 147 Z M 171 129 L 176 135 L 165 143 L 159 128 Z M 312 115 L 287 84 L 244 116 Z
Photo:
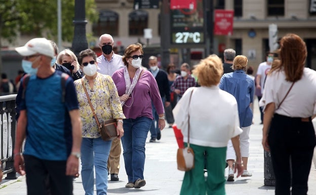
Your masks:
M 232 95 L 218 87 L 223 74 L 222 61 L 218 56 L 211 55 L 201 60 L 193 74 L 198 77 L 201 87 L 188 88 L 173 109 L 175 123 L 183 133 L 184 142 L 190 129 L 190 147 L 194 151 L 194 168 L 185 172 L 180 194 L 224 195 L 223 173 L 228 140 L 231 140 L 237 157 L 235 172 L 238 171 L 237 176 L 243 173 L 238 136 L 242 130 L 239 127 L 237 102 Z M 204 176 L 205 167 L 207 178 Z

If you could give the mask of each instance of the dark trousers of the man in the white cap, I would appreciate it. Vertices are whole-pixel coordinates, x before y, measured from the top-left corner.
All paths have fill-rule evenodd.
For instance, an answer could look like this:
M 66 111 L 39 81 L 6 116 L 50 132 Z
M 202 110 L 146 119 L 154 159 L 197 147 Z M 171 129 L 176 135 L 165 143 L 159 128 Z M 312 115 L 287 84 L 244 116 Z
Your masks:
M 47 194 L 47 181 L 51 194 L 72 195 L 73 177 L 66 175 L 66 161 L 47 161 L 24 155 L 24 162 L 28 195 Z

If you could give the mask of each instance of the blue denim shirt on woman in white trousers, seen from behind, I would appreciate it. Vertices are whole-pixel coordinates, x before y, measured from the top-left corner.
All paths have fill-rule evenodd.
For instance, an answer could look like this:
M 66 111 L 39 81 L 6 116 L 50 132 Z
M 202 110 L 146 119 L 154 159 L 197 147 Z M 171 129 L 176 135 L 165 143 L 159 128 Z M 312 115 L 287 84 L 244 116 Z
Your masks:
M 255 92 L 254 80 L 244 70 L 235 70 L 221 77 L 219 88 L 236 98 L 240 126 L 250 126 L 252 124 L 253 113 L 249 105 L 253 102 Z

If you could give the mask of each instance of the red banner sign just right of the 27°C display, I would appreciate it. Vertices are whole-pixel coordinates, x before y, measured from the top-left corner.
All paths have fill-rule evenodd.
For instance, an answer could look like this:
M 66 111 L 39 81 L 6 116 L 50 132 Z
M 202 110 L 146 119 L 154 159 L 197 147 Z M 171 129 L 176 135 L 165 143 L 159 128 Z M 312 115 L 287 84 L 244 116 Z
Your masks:
M 233 10 L 215 10 L 215 35 L 231 35 L 233 26 Z

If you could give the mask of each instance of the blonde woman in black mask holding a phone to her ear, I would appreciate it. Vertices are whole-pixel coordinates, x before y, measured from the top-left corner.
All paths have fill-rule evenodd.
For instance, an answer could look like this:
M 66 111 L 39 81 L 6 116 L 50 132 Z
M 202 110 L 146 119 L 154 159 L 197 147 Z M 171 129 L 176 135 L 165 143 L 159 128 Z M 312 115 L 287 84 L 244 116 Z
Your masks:
M 73 81 L 83 77 L 77 57 L 71 50 L 65 49 L 61 51 L 56 58 L 56 62 L 70 71 Z

